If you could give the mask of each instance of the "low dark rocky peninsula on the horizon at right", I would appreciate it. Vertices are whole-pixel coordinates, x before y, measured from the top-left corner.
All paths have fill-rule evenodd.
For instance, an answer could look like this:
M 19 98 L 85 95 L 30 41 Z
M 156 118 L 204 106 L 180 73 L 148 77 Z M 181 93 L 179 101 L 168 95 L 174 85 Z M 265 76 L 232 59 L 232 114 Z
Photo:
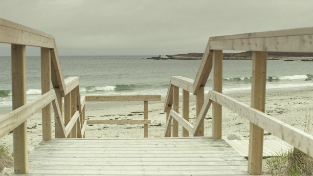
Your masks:
M 147 59 L 154 60 L 201 60 L 203 53 L 187 53 L 175 55 L 159 55 Z M 223 53 L 224 60 L 251 60 L 252 51 L 240 53 Z M 286 60 L 284 60 L 286 59 Z M 284 60 L 284 61 L 313 61 L 313 53 L 290 53 L 290 52 L 268 52 L 268 60 Z

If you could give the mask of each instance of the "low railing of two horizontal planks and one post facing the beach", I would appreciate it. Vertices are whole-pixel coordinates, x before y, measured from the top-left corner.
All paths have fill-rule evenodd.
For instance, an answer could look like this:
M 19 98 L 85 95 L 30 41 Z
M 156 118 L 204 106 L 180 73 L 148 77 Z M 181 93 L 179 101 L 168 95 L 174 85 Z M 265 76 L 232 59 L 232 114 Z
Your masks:
M 106 95 L 106 96 L 86 96 L 87 102 L 143 102 L 143 119 L 142 120 L 86 120 L 85 123 L 89 124 L 143 124 L 143 136 L 148 137 L 148 101 L 161 101 L 161 95 Z M 85 124 L 84 124 L 85 125 Z

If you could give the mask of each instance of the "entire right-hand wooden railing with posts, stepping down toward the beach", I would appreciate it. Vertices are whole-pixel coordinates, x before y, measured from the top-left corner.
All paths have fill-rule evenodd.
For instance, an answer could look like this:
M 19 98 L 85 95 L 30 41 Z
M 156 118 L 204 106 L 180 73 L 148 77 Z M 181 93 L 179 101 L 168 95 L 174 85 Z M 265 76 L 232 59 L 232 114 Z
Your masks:
M 222 94 L 223 50 L 252 50 L 251 106 Z M 261 174 L 264 130 L 313 157 L 313 136 L 264 113 L 267 52 L 313 52 L 313 27 L 210 37 L 195 80 L 172 77 L 165 99 L 167 124 L 164 136 L 178 136 L 179 123 L 193 136 L 203 135 L 203 120 L 212 107 L 212 137 L 222 138 L 222 106 L 250 121 L 248 172 Z M 203 89 L 213 68 L 213 86 L 205 101 Z M 183 113 L 178 112 L 179 88 L 183 89 Z M 197 96 L 197 118 L 189 123 L 189 92 Z M 171 110 L 173 109 L 173 110 Z M 185 110 L 187 109 L 187 110 Z M 173 131 L 171 134 L 171 123 Z M 188 136 L 184 131 L 183 136 Z

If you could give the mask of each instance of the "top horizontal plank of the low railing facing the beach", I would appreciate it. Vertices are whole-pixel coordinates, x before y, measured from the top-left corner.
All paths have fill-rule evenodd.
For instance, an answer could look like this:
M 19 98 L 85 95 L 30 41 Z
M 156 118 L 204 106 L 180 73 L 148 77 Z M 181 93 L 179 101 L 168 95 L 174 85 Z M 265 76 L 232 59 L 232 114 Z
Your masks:
M 88 95 L 86 101 L 161 101 L 161 95 Z

